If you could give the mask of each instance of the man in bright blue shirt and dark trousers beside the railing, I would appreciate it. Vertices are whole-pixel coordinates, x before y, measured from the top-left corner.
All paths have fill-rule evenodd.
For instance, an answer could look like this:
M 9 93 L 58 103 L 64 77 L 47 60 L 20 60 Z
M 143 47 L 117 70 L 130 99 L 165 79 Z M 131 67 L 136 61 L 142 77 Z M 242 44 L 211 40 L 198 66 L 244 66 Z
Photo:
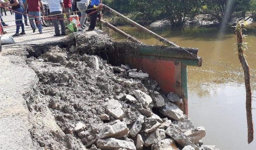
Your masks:
M 99 6 L 101 4 L 101 2 L 102 2 L 102 0 L 91 0 L 91 4 L 88 5 L 87 9 L 93 8 L 94 5 Z M 89 14 L 89 13 L 94 12 L 94 11 L 95 11 L 95 9 L 87 10 L 86 13 Z M 90 27 L 86 31 L 93 31 L 95 29 L 96 21 L 97 21 L 97 15 L 98 15 L 97 12 L 90 15 Z

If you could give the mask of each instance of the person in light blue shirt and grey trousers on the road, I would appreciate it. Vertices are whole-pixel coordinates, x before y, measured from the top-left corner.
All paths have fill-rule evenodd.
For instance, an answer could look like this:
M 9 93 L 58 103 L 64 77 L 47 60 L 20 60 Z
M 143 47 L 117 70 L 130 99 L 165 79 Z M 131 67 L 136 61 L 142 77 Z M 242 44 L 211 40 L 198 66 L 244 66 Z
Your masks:
M 65 24 L 64 24 L 64 15 L 62 13 L 65 13 L 65 7 L 63 4 L 63 0 L 47 0 L 48 4 L 49 4 L 49 9 L 50 9 L 50 15 L 54 15 L 51 16 L 53 20 L 53 25 L 54 25 L 54 29 L 55 29 L 55 34 L 54 36 L 61 36 L 61 35 L 66 35 L 66 28 L 65 28 Z M 59 31 L 59 23 L 61 26 L 61 34 Z

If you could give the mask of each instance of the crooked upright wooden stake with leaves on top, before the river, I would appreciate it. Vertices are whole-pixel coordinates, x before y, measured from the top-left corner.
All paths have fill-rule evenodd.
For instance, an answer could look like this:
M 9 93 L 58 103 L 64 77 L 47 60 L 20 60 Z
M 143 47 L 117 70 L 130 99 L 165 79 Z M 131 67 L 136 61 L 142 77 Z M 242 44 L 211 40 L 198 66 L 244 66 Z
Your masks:
M 237 34 L 237 49 L 238 49 L 238 58 L 242 64 L 244 70 L 244 80 L 246 88 L 246 118 L 247 118 L 247 128 L 248 128 L 248 144 L 253 141 L 253 119 L 252 119 L 252 90 L 250 82 L 250 67 L 244 57 L 244 43 L 243 43 L 243 34 L 241 23 L 238 23 L 236 26 Z

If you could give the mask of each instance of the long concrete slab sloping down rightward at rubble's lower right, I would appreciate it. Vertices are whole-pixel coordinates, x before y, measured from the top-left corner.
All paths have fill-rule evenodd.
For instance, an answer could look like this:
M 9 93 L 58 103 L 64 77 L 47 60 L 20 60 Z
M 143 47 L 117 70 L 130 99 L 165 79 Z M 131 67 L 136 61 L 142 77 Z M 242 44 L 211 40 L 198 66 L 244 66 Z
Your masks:
M 195 148 L 195 150 L 199 150 L 199 148 L 190 140 L 190 138 L 188 136 L 186 136 L 184 133 L 180 132 L 176 126 L 171 124 L 166 129 L 165 132 L 167 135 L 169 135 L 171 138 L 173 138 L 182 147 L 190 145 L 193 148 Z

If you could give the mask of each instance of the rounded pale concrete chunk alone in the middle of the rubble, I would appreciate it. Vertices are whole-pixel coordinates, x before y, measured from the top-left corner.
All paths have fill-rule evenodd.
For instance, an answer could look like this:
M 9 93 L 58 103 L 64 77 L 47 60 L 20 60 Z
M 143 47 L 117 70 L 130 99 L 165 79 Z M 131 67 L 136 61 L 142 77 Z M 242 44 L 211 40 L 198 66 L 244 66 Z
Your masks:
M 124 117 L 124 111 L 122 110 L 122 107 L 122 104 L 120 104 L 117 100 L 111 99 L 108 101 L 107 110 L 111 116 L 122 120 Z

